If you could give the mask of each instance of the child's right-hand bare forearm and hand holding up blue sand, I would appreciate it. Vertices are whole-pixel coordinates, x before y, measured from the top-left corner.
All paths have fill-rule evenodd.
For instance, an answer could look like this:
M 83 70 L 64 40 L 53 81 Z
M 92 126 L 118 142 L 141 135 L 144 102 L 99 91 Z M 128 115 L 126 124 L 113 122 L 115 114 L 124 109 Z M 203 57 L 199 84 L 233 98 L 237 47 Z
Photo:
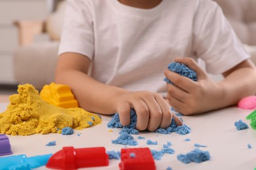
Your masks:
M 215 83 L 191 58 L 177 58 L 198 74 L 198 81 L 165 70 L 165 76 L 173 84 L 167 84 L 167 100 L 177 111 L 185 115 L 200 114 L 209 110 L 236 105 L 242 97 L 256 95 L 255 65 L 247 59 L 223 73 L 224 80 Z

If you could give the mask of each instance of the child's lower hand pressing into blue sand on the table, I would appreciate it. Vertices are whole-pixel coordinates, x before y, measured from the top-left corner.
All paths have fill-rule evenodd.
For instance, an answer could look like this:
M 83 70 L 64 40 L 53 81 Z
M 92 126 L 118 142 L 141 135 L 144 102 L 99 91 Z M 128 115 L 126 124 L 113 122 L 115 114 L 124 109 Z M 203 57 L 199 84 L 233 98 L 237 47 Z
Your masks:
M 169 104 L 163 97 L 152 92 L 127 92 L 116 99 L 116 110 L 122 126 L 130 124 L 130 111 L 135 109 L 137 114 L 136 129 L 155 131 L 158 127 L 167 128 L 175 118 L 177 126 L 182 122 L 171 112 Z

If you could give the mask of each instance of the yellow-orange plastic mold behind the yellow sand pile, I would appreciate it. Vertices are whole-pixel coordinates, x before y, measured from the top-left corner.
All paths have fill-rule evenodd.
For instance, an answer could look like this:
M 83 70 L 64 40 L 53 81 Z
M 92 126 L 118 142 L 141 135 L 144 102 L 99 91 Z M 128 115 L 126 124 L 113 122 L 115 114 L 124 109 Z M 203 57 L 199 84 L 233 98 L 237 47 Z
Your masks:
M 43 86 L 40 96 L 44 101 L 56 107 L 78 107 L 78 102 L 71 92 L 70 87 L 64 84 L 55 84 L 52 82 L 50 85 Z

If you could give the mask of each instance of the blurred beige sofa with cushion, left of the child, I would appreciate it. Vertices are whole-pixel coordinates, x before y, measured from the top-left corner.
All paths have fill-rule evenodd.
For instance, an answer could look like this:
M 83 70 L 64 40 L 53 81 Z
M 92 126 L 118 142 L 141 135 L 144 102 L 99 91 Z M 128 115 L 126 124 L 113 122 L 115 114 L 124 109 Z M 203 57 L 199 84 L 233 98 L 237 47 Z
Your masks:
M 14 50 L 14 77 L 18 84 L 41 90 L 54 81 L 58 44 L 66 1 L 56 0 L 56 10 L 43 21 L 16 21 L 20 46 Z

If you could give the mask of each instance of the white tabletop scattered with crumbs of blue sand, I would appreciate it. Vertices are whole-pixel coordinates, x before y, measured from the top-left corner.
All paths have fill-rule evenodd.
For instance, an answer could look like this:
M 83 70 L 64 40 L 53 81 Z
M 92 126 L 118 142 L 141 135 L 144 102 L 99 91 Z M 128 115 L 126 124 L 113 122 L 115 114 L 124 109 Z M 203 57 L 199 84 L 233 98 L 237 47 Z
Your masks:
M 0 103 L 0 112 L 7 109 L 8 103 Z M 171 142 L 171 148 L 175 150 L 174 154 L 165 154 L 161 160 L 156 160 L 157 169 L 166 169 L 171 167 L 175 169 L 255 169 L 256 167 L 256 131 L 249 126 L 250 120 L 245 117 L 253 110 L 238 109 L 238 107 L 229 107 L 226 109 L 215 110 L 205 114 L 195 116 L 182 116 L 184 124 L 191 127 L 191 133 L 179 135 L 171 133 L 164 135 L 160 133 L 140 132 L 140 136 L 146 139 L 137 139 L 139 135 L 133 135 L 138 141 L 137 146 L 127 147 L 149 147 L 154 150 L 161 150 L 163 144 Z M 74 146 L 74 148 L 87 148 L 104 146 L 107 151 L 120 151 L 126 146 L 121 144 L 112 144 L 112 140 L 119 136 L 121 129 L 107 127 L 111 116 L 102 116 L 102 124 L 89 127 L 83 130 L 75 130 L 73 135 L 61 135 L 50 133 L 47 135 L 29 135 L 29 136 L 11 136 L 9 140 L 14 155 L 26 154 L 26 156 L 37 156 L 43 154 L 54 154 L 62 150 L 64 146 Z M 249 126 L 248 129 L 238 131 L 234 122 L 243 120 Z M 77 135 L 81 133 L 81 135 Z M 146 144 L 147 139 L 158 141 L 157 145 Z M 190 139 L 191 141 L 184 141 Z M 45 146 L 50 141 L 56 141 L 55 146 Z M 194 148 L 195 143 L 206 145 L 201 150 L 209 151 L 211 156 L 209 161 L 202 163 L 182 163 L 177 160 L 178 154 L 186 154 Z M 252 148 L 247 148 L 251 144 Z M 86 168 L 86 169 L 119 169 L 120 160 L 110 160 L 106 167 Z M 46 169 L 40 167 L 39 169 Z

